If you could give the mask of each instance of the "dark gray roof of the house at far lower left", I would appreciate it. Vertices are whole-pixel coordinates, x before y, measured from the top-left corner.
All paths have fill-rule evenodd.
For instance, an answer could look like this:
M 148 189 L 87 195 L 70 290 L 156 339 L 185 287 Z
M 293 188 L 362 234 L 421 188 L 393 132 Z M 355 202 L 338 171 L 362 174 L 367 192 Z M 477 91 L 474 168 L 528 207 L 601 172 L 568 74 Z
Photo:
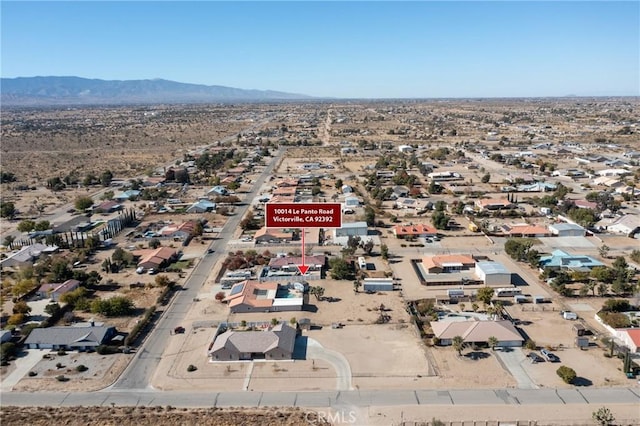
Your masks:
M 113 327 L 48 327 L 34 328 L 25 340 L 25 345 L 59 345 L 68 347 L 99 346 L 105 343 Z

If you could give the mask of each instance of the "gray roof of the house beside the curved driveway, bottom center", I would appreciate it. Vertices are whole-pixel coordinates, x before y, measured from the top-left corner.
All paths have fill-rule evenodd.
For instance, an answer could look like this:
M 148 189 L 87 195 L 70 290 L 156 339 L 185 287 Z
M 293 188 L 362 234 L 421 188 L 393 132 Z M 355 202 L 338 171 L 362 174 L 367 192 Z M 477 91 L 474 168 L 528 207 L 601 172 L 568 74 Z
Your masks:
M 278 324 L 265 331 L 225 331 L 220 334 L 211 352 L 227 348 L 238 353 L 267 353 L 277 347 L 293 353 L 296 330 L 286 324 Z

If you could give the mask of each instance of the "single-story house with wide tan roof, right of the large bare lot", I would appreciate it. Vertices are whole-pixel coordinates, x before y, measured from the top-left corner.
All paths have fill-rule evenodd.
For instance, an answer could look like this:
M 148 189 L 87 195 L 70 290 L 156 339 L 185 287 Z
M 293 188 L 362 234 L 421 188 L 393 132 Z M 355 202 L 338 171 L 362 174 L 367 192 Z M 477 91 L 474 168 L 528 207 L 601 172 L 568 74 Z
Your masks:
M 511 321 L 435 321 L 431 323 L 440 345 L 453 344 L 453 338 L 460 336 L 464 343 L 487 343 L 489 337 L 498 339 L 498 346 L 522 346 L 524 338 Z

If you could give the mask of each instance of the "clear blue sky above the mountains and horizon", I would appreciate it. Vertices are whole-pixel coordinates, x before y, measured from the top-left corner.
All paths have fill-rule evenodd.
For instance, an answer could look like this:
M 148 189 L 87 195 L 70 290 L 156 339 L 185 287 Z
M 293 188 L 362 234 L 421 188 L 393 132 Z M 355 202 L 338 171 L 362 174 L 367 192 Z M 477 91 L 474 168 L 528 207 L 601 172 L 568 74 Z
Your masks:
M 2 77 L 345 98 L 640 95 L 640 2 L 1 2 Z

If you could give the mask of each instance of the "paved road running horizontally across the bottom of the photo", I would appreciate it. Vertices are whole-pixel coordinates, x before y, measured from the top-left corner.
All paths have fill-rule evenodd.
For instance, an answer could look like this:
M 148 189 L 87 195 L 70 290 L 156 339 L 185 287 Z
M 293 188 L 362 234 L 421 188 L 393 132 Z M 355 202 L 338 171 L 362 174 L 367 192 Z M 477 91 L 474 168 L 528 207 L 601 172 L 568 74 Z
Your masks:
M 2 404 L 17 406 L 174 407 L 370 407 L 398 405 L 640 404 L 640 388 L 457 389 L 323 392 L 4 392 Z

